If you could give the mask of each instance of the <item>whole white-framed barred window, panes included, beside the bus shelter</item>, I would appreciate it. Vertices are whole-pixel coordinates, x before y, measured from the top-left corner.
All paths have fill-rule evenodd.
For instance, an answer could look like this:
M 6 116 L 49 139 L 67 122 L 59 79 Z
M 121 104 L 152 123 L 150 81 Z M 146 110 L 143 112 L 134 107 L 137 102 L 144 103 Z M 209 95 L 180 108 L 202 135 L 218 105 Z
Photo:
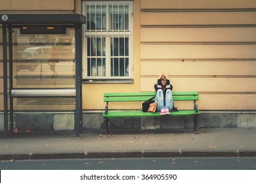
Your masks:
M 132 78 L 132 1 L 86 1 L 85 78 Z

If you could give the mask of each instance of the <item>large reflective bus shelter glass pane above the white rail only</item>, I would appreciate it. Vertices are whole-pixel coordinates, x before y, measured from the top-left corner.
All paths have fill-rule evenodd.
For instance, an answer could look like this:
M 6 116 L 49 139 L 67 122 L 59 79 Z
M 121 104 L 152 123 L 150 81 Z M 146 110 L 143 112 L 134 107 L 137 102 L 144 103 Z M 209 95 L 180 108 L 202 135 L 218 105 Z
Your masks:
M 22 35 L 13 29 L 14 88 L 73 88 L 75 31 L 65 35 Z

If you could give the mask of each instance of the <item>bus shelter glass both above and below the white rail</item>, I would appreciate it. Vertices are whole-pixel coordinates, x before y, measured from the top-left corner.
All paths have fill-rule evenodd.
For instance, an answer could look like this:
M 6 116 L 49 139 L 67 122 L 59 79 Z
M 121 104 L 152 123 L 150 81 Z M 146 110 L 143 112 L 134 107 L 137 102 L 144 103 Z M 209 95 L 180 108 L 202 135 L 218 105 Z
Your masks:
M 75 29 L 66 34 L 20 34 L 12 28 L 13 88 L 75 88 Z M 14 110 L 74 110 L 74 97 L 14 98 Z

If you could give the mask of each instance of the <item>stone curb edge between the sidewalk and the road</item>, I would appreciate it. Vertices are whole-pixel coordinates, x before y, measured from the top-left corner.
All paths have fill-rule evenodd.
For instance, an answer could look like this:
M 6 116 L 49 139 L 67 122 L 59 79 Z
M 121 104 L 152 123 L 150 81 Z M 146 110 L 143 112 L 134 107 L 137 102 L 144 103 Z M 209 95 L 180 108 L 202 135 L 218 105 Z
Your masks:
M 191 158 L 191 157 L 256 157 L 256 150 L 236 151 L 171 151 L 171 152 L 76 152 L 76 153 L 45 153 L 45 154 L 0 154 L 3 160 L 28 159 L 104 159 L 104 158 Z

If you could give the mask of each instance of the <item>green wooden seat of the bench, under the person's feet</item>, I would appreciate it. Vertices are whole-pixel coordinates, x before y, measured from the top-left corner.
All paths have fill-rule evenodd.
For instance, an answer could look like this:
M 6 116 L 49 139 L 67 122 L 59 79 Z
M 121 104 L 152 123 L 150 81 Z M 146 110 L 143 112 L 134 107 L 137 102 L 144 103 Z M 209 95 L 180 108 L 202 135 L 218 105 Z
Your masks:
M 192 114 L 200 114 L 200 111 L 196 110 L 179 110 L 177 112 L 170 112 L 170 115 L 167 116 L 189 116 Z M 142 112 L 140 110 L 123 110 L 123 111 L 109 111 L 108 114 L 103 112 L 103 117 L 107 118 L 118 118 L 118 117 L 149 117 L 149 116 L 161 116 L 160 112 Z

